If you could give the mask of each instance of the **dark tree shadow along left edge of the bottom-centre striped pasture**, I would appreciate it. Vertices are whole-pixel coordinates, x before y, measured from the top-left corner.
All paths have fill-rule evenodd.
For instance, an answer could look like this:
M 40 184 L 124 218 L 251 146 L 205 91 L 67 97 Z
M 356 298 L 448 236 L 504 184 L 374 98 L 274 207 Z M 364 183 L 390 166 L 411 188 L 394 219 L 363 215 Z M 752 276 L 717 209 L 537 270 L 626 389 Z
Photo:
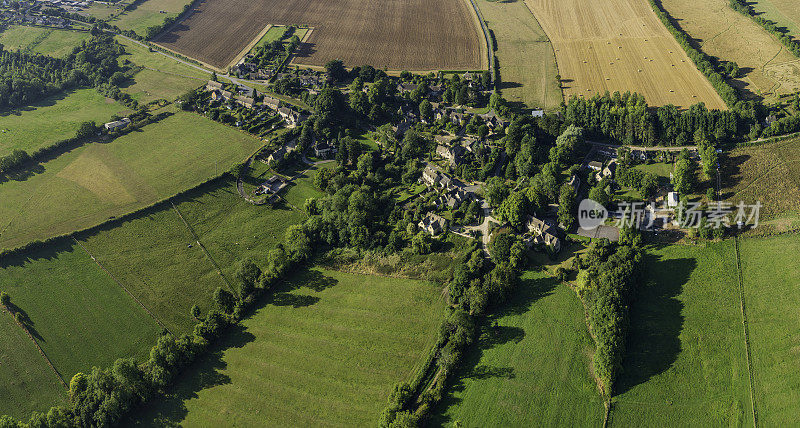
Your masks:
M 202 390 L 231 383 L 231 378 L 223 373 L 228 364 L 224 361 L 225 351 L 241 348 L 255 340 L 255 336 L 241 325 L 228 329 L 213 350 L 201 357 L 176 379 L 175 386 L 163 397 L 156 397 L 141 411 L 131 412 L 131 417 L 122 426 L 180 426 L 189 411 L 186 401 L 198 398 Z

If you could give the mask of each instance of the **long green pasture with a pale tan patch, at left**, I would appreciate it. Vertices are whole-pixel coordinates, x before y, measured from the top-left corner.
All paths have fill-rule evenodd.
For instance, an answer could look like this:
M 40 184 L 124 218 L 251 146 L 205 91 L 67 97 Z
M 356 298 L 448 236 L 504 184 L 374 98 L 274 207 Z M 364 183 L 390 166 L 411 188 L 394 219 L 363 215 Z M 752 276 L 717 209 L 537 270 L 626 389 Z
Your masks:
M 135 211 L 226 171 L 261 144 L 178 112 L 109 143 L 72 150 L 0 183 L 0 248 Z

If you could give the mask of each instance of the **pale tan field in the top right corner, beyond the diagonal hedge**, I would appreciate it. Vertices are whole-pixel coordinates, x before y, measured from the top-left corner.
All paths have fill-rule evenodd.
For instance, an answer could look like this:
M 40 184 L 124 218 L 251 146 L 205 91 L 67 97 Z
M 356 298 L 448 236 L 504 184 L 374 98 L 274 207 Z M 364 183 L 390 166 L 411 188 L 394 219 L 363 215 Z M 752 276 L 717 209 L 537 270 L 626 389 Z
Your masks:
M 662 0 L 664 8 L 703 51 L 735 61 L 743 73 L 737 86 L 755 98 L 800 90 L 800 60 L 728 0 Z

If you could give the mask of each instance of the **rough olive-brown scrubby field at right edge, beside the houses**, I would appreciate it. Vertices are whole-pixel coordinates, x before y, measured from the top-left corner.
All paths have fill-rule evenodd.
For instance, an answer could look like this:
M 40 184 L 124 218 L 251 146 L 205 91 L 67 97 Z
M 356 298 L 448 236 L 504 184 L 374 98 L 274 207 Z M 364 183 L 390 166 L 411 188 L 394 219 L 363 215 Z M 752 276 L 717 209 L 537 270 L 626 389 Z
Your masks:
M 722 162 L 722 197 L 736 205 L 761 201 L 762 220 L 784 230 L 781 214 L 800 210 L 800 138 L 732 150 Z

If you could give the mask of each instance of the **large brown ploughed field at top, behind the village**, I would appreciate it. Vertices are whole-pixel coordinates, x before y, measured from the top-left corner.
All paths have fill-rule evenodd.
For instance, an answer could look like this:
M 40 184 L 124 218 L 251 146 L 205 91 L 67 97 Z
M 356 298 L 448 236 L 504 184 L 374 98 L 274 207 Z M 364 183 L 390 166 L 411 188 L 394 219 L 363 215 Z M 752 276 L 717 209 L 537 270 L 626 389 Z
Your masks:
M 224 69 L 270 24 L 314 28 L 294 59 L 303 65 L 341 59 L 389 70 L 488 67 L 467 0 L 205 0 L 156 42 Z

